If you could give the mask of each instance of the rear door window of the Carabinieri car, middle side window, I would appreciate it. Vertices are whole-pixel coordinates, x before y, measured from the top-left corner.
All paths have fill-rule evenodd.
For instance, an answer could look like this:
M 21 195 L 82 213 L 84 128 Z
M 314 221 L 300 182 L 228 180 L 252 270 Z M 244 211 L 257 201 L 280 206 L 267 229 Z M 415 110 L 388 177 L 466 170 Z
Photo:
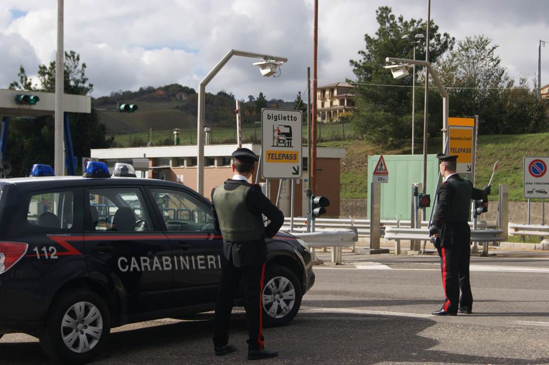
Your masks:
M 86 231 L 148 232 L 153 224 L 139 188 L 89 189 Z

